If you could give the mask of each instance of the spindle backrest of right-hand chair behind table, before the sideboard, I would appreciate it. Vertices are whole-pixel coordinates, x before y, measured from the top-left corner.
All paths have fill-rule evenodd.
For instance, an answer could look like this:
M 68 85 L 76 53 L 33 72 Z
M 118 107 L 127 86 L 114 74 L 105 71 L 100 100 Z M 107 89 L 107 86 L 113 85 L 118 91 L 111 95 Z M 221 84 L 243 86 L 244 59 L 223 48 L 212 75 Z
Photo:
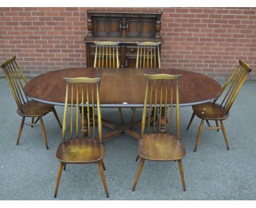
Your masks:
M 136 42 L 137 60 L 136 68 L 161 68 L 160 50 L 161 42 Z

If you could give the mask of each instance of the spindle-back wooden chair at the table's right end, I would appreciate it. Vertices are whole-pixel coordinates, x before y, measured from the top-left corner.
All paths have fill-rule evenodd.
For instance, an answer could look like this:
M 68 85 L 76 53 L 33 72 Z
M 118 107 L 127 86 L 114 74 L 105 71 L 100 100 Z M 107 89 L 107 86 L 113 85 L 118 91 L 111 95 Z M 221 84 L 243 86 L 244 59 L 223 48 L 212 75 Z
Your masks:
M 234 103 L 236 96 L 238 95 L 243 83 L 245 83 L 246 78 L 251 71 L 252 70 L 247 63 L 243 62 L 242 60 L 239 60 L 239 65 L 223 86 L 222 94 L 219 97 L 217 97 L 216 100 L 214 100 L 213 102 L 207 102 L 200 105 L 192 106 L 193 114 L 189 121 L 187 130 L 189 129 L 195 115 L 201 119 L 201 124 L 199 126 L 199 131 L 197 133 L 194 152 L 196 151 L 197 146 L 199 144 L 201 132 L 203 129 L 218 131 L 219 129 L 221 129 L 226 142 L 226 148 L 229 150 L 228 137 L 226 136 L 226 130 L 223 121 L 229 118 L 230 108 Z M 220 104 L 218 104 L 216 103 L 217 100 L 222 101 L 220 102 Z M 216 127 L 210 125 L 209 121 L 211 120 L 215 121 Z M 206 123 L 208 124 L 207 127 L 203 126 L 204 121 L 206 121 Z

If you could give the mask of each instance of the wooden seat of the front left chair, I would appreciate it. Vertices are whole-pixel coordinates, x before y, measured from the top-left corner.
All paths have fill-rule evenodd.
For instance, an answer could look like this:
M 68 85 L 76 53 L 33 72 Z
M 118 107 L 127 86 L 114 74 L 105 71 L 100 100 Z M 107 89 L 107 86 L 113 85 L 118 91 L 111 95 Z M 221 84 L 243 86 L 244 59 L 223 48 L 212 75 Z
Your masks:
M 105 146 L 97 139 L 67 139 L 60 144 L 56 157 L 64 163 L 91 163 L 102 160 Z

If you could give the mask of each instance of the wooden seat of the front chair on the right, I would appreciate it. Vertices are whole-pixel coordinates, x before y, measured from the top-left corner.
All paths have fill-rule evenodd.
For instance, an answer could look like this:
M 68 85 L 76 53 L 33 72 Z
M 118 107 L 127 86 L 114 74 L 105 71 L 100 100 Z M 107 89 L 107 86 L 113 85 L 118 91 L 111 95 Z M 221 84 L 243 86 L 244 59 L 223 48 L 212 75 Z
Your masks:
M 175 134 L 151 133 L 138 140 L 138 154 L 147 160 L 173 161 L 182 159 L 186 151 Z

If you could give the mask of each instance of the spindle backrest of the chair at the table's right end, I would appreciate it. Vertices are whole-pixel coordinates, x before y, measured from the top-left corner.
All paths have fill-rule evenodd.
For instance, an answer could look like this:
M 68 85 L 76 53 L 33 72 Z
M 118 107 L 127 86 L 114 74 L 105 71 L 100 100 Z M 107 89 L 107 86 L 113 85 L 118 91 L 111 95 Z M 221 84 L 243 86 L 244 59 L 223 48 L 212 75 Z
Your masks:
M 236 96 L 238 95 L 243 83 L 245 83 L 247 76 L 252 71 L 249 65 L 242 60 L 239 60 L 239 64 L 231 75 L 229 80 L 225 83 L 222 89 L 222 94 L 226 90 L 224 99 L 220 106 L 224 108 L 223 115 L 228 114 L 229 110 L 234 103 Z M 218 99 L 214 100 L 216 102 Z

